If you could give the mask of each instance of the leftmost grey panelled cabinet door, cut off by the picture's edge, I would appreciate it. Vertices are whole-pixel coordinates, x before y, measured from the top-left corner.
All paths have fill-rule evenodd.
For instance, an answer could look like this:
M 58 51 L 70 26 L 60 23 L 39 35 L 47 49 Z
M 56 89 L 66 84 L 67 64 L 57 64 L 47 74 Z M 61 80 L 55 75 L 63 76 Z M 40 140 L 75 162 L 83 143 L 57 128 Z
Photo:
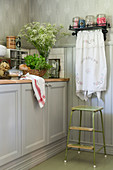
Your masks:
M 0 166 L 21 156 L 20 85 L 0 85 Z

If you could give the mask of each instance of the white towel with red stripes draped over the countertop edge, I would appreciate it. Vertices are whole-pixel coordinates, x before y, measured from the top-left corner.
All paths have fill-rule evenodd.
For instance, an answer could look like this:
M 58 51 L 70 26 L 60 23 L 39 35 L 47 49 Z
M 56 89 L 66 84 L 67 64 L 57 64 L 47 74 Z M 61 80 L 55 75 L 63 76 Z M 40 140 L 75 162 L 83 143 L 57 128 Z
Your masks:
M 32 80 L 33 90 L 38 100 L 40 108 L 44 107 L 45 104 L 45 80 L 42 77 L 31 75 L 27 73 L 23 79 L 30 79 Z

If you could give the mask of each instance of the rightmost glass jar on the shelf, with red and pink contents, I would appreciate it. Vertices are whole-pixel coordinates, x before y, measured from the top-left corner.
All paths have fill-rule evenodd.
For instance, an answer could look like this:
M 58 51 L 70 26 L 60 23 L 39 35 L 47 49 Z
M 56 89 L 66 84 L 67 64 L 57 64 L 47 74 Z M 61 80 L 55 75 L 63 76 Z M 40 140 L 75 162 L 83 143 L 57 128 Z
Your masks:
M 106 15 L 105 14 L 97 15 L 97 25 L 98 26 L 106 26 Z

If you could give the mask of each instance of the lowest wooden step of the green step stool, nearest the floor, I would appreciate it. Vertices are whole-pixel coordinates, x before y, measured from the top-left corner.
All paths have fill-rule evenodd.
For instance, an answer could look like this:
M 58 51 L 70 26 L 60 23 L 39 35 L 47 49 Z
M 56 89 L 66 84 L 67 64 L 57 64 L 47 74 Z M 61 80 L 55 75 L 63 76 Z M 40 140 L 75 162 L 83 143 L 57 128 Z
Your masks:
M 87 145 L 79 145 L 79 144 L 68 144 L 68 148 L 79 148 L 79 149 L 88 149 L 93 150 L 93 146 L 87 146 Z

